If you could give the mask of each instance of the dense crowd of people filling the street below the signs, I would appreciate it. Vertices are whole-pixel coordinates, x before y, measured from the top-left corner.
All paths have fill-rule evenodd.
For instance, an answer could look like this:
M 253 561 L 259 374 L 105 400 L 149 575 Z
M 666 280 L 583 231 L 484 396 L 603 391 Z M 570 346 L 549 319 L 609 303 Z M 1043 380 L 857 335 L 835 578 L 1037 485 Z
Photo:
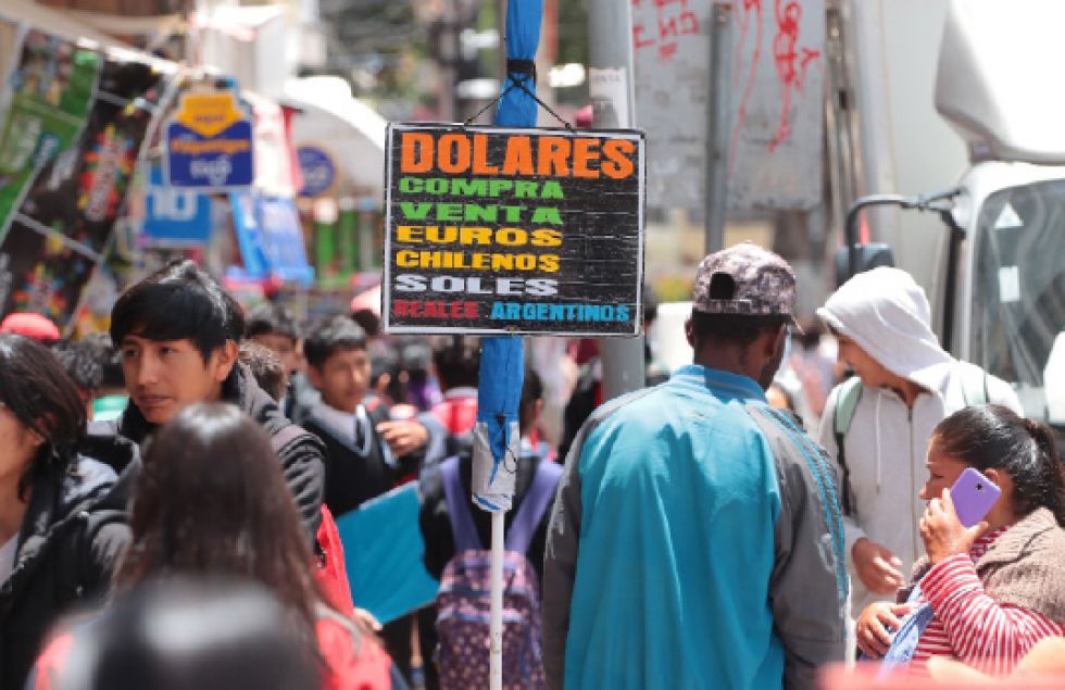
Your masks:
M 801 327 L 795 291 L 739 244 L 698 267 L 689 365 L 648 350 L 653 385 L 604 401 L 592 341 L 530 362 L 504 687 L 801 689 L 937 655 L 1004 676 L 1065 636 L 1053 434 L 942 350 L 904 272 L 859 274 Z M 484 685 L 477 338 L 246 313 L 188 261 L 128 288 L 106 334 L 0 331 L 0 687 Z M 969 471 L 1000 493 L 963 524 Z M 381 625 L 336 520 L 410 482 L 439 592 Z

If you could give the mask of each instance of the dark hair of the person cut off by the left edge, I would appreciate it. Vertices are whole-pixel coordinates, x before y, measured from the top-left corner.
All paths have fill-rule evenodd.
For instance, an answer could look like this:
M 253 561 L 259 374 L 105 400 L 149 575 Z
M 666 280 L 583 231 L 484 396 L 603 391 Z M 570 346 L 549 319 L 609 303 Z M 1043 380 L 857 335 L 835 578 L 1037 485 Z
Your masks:
M 38 477 L 70 472 L 85 440 L 85 403 L 48 348 L 14 334 L 0 334 L 0 403 L 45 439 L 18 480 L 22 499 Z

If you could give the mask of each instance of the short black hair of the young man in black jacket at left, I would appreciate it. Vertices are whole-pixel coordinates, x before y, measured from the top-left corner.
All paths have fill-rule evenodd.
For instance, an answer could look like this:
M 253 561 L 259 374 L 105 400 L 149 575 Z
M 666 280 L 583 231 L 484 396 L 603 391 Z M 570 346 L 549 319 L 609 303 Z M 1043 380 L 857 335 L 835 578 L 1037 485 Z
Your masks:
M 189 260 L 174 261 L 122 293 L 111 310 L 111 340 L 191 340 L 206 362 L 227 340 L 239 342 L 245 316 L 228 292 Z

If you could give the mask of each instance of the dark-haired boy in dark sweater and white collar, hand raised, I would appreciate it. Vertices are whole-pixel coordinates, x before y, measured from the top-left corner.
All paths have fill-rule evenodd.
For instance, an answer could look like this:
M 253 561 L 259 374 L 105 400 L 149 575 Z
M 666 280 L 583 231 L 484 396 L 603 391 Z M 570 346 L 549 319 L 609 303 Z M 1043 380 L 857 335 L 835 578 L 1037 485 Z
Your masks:
M 314 326 L 303 352 L 308 378 L 322 394 L 303 426 L 325 443 L 325 503 L 340 516 L 416 474 L 439 434 L 422 419 L 391 421 L 384 403 L 364 404 L 371 378 L 366 331 L 351 318 Z

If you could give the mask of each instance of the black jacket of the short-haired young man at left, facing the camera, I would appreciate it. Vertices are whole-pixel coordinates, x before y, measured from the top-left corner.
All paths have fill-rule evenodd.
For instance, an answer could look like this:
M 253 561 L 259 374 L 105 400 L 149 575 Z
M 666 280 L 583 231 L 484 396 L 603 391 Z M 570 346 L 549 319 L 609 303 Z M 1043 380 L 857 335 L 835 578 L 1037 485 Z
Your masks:
M 255 379 L 243 364 L 237 364 L 222 384 L 222 400 L 229 402 L 266 429 L 271 437 L 277 436 L 281 429 L 292 423 L 281 414 L 277 403 L 266 391 L 261 389 Z M 129 401 L 126 411 L 114 422 L 93 423 L 89 425 L 89 442 L 87 448 L 93 456 L 116 466 L 115 459 L 109 452 L 113 447 L 114 437 L 123 437 L 137 443 L 154 430 L 137 405 Z M 309 434 L 295 435 L 277 450 L 281 463 L 281 472 L 288 484 L 296 505 L 300 511 L 303 526 L 312 540 L 317 534 L 322 522 L 322 500 L 325 494 L 325 449 L 318 439 Z

